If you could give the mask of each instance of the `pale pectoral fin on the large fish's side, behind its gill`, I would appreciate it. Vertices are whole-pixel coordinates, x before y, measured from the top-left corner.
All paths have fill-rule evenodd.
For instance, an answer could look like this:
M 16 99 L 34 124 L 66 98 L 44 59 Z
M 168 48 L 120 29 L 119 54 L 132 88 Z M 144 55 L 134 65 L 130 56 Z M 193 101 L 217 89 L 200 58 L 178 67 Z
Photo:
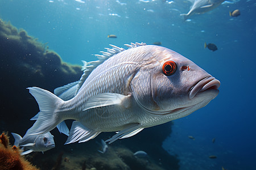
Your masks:
M 87 109 L 92 108 L 105 107 L 107 105 L 122 104 L 123 101 L 125 101 L 129 97 L 130 95 L 125 96 L 109 92 L 94 95 L 86 101 L 85 108 L 82 111 L 86 111 Z M 124 104 L 124 106 L 127 107 L 127 103 Z

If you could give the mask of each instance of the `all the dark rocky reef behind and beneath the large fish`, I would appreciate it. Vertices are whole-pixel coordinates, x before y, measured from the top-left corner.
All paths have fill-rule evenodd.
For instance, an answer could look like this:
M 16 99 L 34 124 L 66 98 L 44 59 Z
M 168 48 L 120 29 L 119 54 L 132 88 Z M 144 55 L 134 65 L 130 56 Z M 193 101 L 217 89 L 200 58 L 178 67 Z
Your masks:
M 48 50 L 26 31 L 16 29 L 0 20 L 0 131 L 24 135 L 38 113 L 38 104 L 26 90 L 37 86 L 53 92 L 80 79 L 80 66 L 61 61 L 60 56 Z M 68 126 L 71 121 L 67 121 Z M 63 145 L 67 137 L 56 129 L 56 147 L 44 152 L 32 152 L 26 158 L 42 169 L 179 169 L 179 160 L 169 155 L 162 142 L 171 133 L 171 122 L 142 130 L 134 137 L 120 139 L 111 145 L 105 154 L 100 139 L 108 139 L 114 133 L 102 133 L 86 143 Z M 13 138 L 11 138 L 13 143 Z M 147 158 L 136 158 L 133 152 L 146 151 Z

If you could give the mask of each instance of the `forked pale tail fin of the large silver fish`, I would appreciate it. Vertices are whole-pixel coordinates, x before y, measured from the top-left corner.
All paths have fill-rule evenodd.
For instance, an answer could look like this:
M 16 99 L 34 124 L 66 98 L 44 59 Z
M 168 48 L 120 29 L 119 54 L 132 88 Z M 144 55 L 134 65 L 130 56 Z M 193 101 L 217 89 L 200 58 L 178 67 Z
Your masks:
M 59 97 L 39 87 L 28 87 L 30 94 L 38 102 L 40 114 L 35 124 L 27 130 L 28 135 L 44 134 L 54 129 L 61 121 L 60 115 L 55 112 L 56 105 L 63 102 Z

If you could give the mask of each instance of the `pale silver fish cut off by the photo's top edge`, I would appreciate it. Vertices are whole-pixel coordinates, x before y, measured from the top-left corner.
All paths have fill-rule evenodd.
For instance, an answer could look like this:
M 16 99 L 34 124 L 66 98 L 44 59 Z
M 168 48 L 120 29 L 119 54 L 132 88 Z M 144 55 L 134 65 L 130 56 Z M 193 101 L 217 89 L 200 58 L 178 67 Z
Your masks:
M 225 0 L 189 0 L 193 4 L 188 12 L 188 14 L 180 14 L 184 17 L 184 20 L 188 19 L 189 16 L 193 14 L 203 14 L 217 6 L 221 5 Z

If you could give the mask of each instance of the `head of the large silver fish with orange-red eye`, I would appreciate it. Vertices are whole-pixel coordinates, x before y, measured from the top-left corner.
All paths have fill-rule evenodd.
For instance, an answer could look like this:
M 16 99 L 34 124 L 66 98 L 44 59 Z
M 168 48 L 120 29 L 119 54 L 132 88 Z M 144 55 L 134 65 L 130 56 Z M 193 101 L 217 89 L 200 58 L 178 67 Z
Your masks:
M 138 105 L 171 120 L 191 114 L 218 95 L 220 81 L 188 58 L 162 46 L 147 50 L 148 60 L 131 82 Z

